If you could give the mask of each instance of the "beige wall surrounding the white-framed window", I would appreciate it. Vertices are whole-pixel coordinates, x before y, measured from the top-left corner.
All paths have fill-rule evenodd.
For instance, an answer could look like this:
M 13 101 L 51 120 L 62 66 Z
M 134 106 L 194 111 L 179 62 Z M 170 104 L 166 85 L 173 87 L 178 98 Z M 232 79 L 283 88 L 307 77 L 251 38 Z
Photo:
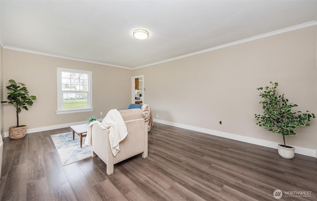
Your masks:
M 93 72 L 93 112 L 55 113 L 57 67 Z M 131 102 L 131 73 L 131 70 L 123 68 L 3 49 L 4 88 L 9 79 L 14 79 L 26 84 L 30 95 L 37 96 L 29 110 L 22 110 L 19 114 L 20 124 L 27 125 L 28 129 L 85 121 L 91 115 L 102 118 L 109 109 L 127 108 Z M 101 111 L 103 115 L 100 115 Z M 4 104 L 4 130 L 8 131 L 9 126 L 14 125 L 14 107 Z

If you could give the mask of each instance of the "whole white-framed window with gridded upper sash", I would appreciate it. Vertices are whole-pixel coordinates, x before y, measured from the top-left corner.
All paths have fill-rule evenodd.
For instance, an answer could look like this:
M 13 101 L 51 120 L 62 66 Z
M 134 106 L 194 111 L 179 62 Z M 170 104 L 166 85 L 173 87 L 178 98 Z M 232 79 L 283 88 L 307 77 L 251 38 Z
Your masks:
M 92 111 L 92 72 L 57 68 L 57 114 Z

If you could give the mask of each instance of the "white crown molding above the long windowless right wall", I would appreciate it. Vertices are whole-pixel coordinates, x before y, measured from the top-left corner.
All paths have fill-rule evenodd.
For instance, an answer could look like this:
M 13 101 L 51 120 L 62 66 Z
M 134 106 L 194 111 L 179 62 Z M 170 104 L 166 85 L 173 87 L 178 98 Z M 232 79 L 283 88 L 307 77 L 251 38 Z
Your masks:
M 229 46 L 234 46 L 234 45 L 238 45 L 238 44 L 241 44 L 241 43 L 246 43 L 246 42 L 249 42 L 249 41 L 258 40 L 258 39 L 266 38 L 266 37 L 269 37 L 269 36 L 274 36 L 274 35 L 282 34 L 282 33 L 285 33 L 285 32 L 294 31 L 294 30 L 297 30 L 297 29 L 303 29 L 303 28 L 306 28 L 306 27 L 314 26 L 314 25 L 317 25 L 317 18 L 316 18 L 316 20 L 311 21 L 311 22 L 295 25 L 295 26 L 292 26 L 292 27 L 284 28 L 284 29 L 279 29 L 279 30 L 276 30 L 276 31 L 272 31 L 272 32 L 268 32 L 268 33 L 261 34 L 261 35 L 258 35 L 258 36 L 253 36 L 253 37 L 250 37 L 250 38 L 247 38 L 247 39 L 242 39 L 242 40 L 239 40 L 239 41 L 227 43 L 227 44 L 216 46 L 216 47 L 209 48 L 209 49 L 206 49 L 206 50 L 195 51 L 195 52 L 192 52 L 192 53 L 189 53 L 189 54 L 184 54 L 184 55 L 181 55 L 181 56 L 176 56 L 176 57 L 165 59 L 165 60 L 161 60 L 161 61 L 158 61 L 158 62 L 154 62 L 154 63 L 150 63 L 150 64 L 138 66 L 138 67 L 134 67 L 132 69 L 138 69 L 138 68 L 144 68 L 144 67 L 148 67 L 148 66 L 152 66 L 152 65 L 157 65 L 157 64 L 160 64 L 160 63 L 165 63 L 165 62 L 168 62 L 168 61 L 173 61 L 173 60 L 177 60 L 177 59 L 180 59 L 180 58 L 185 58 L 185 57 L 188 57 L 188 56 L 193 56 L 193 55 L 196 55 L 196 54 L 201 54 L 201 53 L 212 51 L 212 50 L 218 50 L 218 49 L 221 49 L 221 48 L 226 48 L 226 47 L 229 47 Z

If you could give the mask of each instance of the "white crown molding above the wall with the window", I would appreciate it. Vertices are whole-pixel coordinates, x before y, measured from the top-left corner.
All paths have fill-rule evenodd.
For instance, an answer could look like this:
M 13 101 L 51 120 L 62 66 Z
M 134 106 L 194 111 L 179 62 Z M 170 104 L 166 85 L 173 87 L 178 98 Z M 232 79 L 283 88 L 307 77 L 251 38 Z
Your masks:
M 82 61 L 82 62 L 87 62 L 87 63 L 95 63 L 95 64 L 100 64 L 100 65 L 106 65 L 106 66 L 112 66 L 112 67 L 117 67 L 117 68 L 125 68 L 125 69 L 132 69 L 126 66 L 120 66 L 120 65 L 115 65 L 115 64 L 110 64 L 110 63 L 103 63 L 99 61 L 92 61 L 92 60 L 86 60 L 86 59 L 81 59 L 81 58 L 75 58 L 75 57 L 70 57 L 70 56 L 62 56 L 58 54 L 51 54 L 51 53 L 46 53 L 42 51 L 34 51 L 34 50 L 28 50 L 28 49 L 23 49 L 23 48 L 15 48 L 11 46 L 2 46 L 3 49 L 7 50 L 16 50 L 16 51 L 23 51 L 23 52 L 28 52 L 28 53 L 34 53 L 34 54 L 40 54 L 40 55 L 45 55 L 45 56 L 52 56 L 52 57 L 57 57 L 57 58 L 64 58 L 64 59 L 69 59 L 69 60 L 75 60 L 75 61 Z

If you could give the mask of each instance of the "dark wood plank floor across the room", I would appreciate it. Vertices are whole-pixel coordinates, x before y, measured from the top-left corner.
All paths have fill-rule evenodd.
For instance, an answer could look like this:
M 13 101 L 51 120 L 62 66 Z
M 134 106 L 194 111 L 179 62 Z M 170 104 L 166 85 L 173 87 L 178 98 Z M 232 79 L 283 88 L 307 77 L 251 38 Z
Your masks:
M 4 139 L 1 201 L 271 200 L 277 189 L 311 192 L 317 200 L 317 159 L 156 123 L 149 157 L 137 155 L 106 174 L 99 157 L 62 166 L 50 135 L 69 128 Z

